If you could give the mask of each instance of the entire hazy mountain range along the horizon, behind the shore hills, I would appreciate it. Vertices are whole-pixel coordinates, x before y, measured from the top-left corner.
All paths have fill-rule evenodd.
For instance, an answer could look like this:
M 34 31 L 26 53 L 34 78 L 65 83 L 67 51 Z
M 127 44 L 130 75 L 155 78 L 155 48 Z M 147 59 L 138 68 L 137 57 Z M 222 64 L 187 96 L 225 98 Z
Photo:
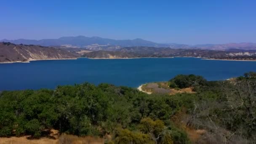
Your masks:
M 184 49 L 210 49 L 225 51 L 228 49 L 243 49 L 256 50 L 256 43 L 227 43 L 227 44 L 200 44 L 200 45 L 186 45 L 177 43 L 155 43 L 140 38 L 133 40 L 114 40 L 102 37 L 60 37 L 58 39 L 42 39 L 42 40 L 0 40 L 0 42 L 9 42 L 14 44 L 26 45 L 42 45 L 42 46 L 59 46 L 69 45 L 69 47 L 87 48 L 93 50 L 95 45 L 96 50 L 105 50 L 109 46 L 133 47 L 133 46 L 147 46 L 147 47 L 166 47 L 166 48 L 184 48 Z

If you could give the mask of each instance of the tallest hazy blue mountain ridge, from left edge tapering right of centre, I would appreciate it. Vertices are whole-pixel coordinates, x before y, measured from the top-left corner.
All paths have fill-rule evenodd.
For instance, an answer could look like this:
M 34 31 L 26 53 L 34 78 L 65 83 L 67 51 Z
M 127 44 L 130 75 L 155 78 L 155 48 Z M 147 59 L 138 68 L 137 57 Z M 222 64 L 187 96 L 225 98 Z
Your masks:
M 60 37 L 58 39 L 43 39 L 43 40 L 0 40 L 0 42 L 10 42 L 14 44 L 27 44 L 27 45 L 43 45 L 43 46 L 52 46 L 52 45 L 73 45 L 77 47 L 84 47 L 87 45 L 119 45 L 119 46 L 154 46 L 154 47 L 168 47 L 165 44 L 154 43 L 148 40 L 134 39 L 134 40 L 113 40 L 108 38 L 101 37 Z

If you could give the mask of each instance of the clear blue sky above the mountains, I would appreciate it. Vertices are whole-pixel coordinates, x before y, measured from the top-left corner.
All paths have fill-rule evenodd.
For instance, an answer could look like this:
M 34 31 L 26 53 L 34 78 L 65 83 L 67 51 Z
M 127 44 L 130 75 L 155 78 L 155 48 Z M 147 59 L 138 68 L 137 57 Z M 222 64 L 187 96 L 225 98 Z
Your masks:
M 256 43 L 256 0 L 1 0 L 0 40 Z

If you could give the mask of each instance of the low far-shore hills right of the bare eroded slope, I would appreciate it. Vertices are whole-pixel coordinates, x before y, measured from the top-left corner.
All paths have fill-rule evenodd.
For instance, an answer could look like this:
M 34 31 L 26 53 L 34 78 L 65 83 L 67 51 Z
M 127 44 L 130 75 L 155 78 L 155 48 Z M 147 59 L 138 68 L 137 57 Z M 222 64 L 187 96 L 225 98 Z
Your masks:
M 213 51 L 202 49 L 173 49 L 156 47 L 125 47 L 116 51 L 94 51 L 83 55 L 88 58 L 135 58 L 135 57 L 201 57 L 206 59 L 256 60 L 255 51 Z

